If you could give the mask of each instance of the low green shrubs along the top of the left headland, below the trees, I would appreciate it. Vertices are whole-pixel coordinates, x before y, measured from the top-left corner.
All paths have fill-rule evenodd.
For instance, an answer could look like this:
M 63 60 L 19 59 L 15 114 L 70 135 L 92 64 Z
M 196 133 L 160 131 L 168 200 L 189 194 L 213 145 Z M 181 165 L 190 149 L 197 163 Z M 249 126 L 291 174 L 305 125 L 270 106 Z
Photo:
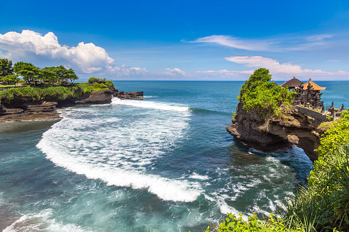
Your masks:
M 42 99 L 59 99 L 64 100 L 69 97 L 82 96 L 93 92 L 94 90 L 104 90 L 101 88 L 94 88 L 88 86 L 86 83 L 79 83 L 75 86 L 63 87 L 23 87 L 23 88 L 10 88 L 8 90 L 0 91 L 0 99 L 3 102 L 10 102 L 12 99 L 21 98 L 25 101 L 40 101 Z

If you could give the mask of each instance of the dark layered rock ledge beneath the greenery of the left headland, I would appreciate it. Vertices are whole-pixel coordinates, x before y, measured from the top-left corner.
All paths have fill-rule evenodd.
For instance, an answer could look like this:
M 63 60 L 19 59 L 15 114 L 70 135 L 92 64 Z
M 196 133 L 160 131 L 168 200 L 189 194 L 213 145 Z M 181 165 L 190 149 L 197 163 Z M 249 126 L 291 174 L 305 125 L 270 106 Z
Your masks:
M 116 89 L 109 89 L 75 98 L 45 99 L 35 103 L 27 102 L 25 99 L 13 99 L 10 103 L 0 104 L 0 121 L 55 120 L 60 118 L 56 112 L 57 107 L 108 104 L 112 102 L 113 96 L 119 99 L 141 99 L 143 92 L 119 92 Z

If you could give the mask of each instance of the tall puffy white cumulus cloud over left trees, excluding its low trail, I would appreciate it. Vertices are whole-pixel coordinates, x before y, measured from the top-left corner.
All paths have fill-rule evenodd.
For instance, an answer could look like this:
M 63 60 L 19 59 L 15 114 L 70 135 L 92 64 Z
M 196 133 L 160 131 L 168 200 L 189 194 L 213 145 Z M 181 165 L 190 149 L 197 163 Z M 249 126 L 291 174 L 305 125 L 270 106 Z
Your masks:
M 61 45 L 52 32 L 45 36 L 29 30 L 0 34 L 0 49 L 7 51 L 1 56 L 12 60 L 25 59 L 34 54 L 50 60 L 62 60 L 82 73 L 100 73 L 114 64 L 105 49 L 91 42 L 80 42 L 76 47 Z

